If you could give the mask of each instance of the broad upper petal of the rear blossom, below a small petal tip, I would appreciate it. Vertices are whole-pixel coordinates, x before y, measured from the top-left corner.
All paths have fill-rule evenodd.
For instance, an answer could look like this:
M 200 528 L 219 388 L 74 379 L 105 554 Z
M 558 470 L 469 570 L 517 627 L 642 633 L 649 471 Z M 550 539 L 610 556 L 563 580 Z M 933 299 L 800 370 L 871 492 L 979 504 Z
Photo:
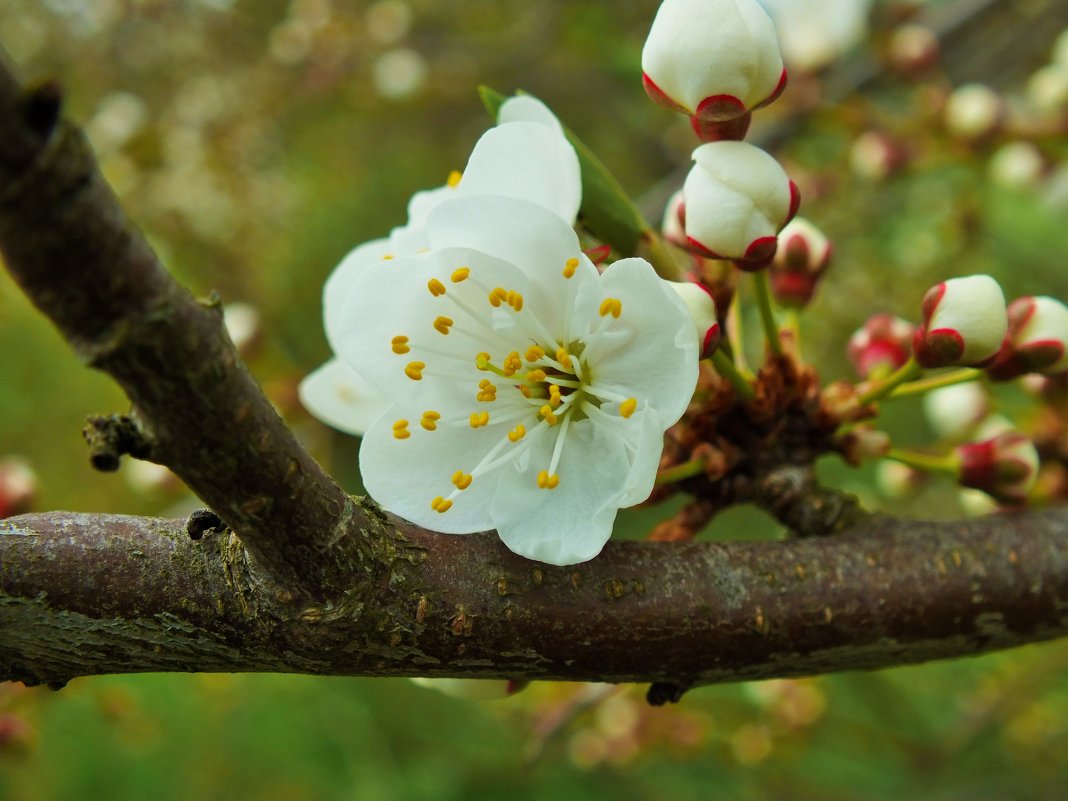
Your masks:
M 456 192 L 530 201 L 572 225 L 582 201 L 579 157 L 563 134 L 543 123 L 501 125 L 475 143 Z

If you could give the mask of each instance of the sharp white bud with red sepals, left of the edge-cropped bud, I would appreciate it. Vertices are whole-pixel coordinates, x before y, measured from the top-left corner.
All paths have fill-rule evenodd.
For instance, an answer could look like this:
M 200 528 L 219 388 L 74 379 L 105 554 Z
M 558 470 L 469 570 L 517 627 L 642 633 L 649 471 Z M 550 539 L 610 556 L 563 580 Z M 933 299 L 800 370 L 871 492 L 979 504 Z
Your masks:
M 925 367 L 976 365 L 998 352 L 1007 330 L 1005 296 L 996 281 L 954 278 L 924 296 L 923 325 L 912 349 Z

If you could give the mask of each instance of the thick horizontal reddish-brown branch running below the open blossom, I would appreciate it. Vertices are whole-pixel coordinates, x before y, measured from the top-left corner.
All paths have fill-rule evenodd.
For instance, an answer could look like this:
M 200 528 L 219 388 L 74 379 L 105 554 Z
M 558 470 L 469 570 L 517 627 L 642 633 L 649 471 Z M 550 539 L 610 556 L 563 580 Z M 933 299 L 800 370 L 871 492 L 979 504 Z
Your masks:
M 388 577 L 271 613 L 230 534 L 69 514 L 0 523 L 0 678 L 292 671 L 680 687 L 881 668 L 1068 633 L 1068 512 L 877 520 L 785 543 L 610 543 L 557 568 L 406 532 Z M 431 555 L 433 554 L 433 557 Z M 286 599 L 281 599 L 286 600 Z

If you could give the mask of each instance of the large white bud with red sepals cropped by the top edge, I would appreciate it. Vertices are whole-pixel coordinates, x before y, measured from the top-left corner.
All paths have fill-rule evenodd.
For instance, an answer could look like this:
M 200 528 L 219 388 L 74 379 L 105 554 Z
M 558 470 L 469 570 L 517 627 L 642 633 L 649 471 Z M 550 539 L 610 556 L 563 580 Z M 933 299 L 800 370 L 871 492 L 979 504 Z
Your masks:
M 695 129 L 742 117 L 786 85 L 775 28 L 756 0 L 664 0 L 642 73 L 649 97 L 689 114 Z

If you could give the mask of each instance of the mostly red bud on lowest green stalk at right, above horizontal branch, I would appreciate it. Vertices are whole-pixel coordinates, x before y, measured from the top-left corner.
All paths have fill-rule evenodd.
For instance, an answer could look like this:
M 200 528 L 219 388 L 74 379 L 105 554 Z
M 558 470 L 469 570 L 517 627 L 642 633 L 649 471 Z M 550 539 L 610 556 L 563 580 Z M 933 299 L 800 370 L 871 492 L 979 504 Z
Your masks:
M 981 489 L 1003 504 L 1024 503 L 1038 475 L 1038 451 L 1020 431 L 960 445 L 957 455 L 960 483 Z

